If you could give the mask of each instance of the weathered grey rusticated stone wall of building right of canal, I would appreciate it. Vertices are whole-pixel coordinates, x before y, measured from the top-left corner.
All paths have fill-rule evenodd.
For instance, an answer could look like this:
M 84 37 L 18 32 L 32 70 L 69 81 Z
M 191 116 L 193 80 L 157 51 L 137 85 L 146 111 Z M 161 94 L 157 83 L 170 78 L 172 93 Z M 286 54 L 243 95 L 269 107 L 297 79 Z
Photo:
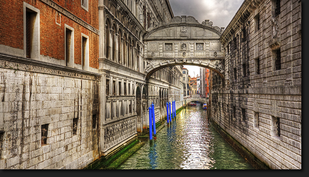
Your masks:
M 226 87 L 213 73 L 211 118 L 271 169 L 301 169 L 301 2 L 281 1 L 276 17 L 275 1 L 258 2 L 222 34 Z

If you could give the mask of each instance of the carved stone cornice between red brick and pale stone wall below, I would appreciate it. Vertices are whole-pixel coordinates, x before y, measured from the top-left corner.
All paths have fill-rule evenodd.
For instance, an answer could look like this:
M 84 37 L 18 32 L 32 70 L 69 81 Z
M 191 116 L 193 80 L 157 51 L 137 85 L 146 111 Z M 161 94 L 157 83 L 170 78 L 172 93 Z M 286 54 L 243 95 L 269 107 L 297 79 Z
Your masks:
M 89 80 L 100 80 L 102 74 L 56 65 L 44 61 L 33 60 L 25 57 L 18 57 L 0 53 L 0 68 L 22 70 L 35 73 L 51 74 Z

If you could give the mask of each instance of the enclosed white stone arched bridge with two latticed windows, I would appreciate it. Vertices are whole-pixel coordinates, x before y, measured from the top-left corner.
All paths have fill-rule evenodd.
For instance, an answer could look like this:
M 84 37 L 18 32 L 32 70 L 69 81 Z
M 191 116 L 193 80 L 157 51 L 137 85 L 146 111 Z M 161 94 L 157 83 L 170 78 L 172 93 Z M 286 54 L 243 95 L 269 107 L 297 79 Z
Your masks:
M 176 16 L 148 29 L 144 41 L 146 80 L 155 71 L 173 65 L 196 65 L 215 71 L 224 79 L 223 27 L 201 24 L 192 16 Z

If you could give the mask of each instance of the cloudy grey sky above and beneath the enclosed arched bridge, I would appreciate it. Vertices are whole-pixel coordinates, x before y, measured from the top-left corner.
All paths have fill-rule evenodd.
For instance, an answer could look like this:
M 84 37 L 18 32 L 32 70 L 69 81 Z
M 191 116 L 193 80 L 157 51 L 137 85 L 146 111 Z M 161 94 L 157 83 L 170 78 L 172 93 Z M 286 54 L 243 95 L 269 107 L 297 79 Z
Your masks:
M 212 26 L 224 27 L 230 23 L 244 0 L 169 0 L 174 16 L 193 16 L 199 23 L 213 22 Z M 200 75 L 198 66 L 184 65 L 191 77 Z M 193 71 L 195 73 L 193 74 Z

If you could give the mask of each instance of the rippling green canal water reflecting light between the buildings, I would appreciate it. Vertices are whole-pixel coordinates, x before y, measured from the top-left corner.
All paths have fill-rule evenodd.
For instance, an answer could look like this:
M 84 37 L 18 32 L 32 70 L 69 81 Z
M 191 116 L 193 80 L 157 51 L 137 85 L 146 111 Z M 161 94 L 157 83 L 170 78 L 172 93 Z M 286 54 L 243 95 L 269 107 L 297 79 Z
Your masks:
M 118 169 L 254 169 L 209 124 L 202 104 L 188 106 Z

